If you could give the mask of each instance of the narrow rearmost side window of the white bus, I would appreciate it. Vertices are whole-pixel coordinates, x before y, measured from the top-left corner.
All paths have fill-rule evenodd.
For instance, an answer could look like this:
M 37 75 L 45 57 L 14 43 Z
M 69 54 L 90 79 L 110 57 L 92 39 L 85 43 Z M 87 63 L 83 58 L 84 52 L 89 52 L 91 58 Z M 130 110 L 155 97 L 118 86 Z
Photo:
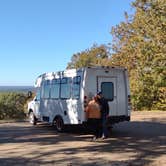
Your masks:
M 72 85 L 72 98 L 73 99 L 79 99 L 79 97 L 80 97 L 80 83 L 81 83 L 80 76 L 76 76 L 73 78 L 73 85 Z

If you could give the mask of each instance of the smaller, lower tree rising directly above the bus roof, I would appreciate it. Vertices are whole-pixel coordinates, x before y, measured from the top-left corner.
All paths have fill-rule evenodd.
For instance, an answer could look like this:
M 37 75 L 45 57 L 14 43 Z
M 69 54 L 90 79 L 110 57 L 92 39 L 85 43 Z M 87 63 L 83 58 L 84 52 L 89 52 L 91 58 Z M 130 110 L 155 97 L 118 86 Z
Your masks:
M 94 45 L 90 49 L 74 54 L 67 68 L 81 68 L 90 66 L 107 66 L 110 57 L 109 47 Z

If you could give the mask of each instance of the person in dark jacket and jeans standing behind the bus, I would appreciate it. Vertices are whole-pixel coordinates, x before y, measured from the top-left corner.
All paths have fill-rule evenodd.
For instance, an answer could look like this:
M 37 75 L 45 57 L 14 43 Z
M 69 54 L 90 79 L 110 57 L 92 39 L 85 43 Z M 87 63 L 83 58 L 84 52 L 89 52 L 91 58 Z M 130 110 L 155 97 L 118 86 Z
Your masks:
M 103 97 L 102 92 L 97 93 L 100 110 L 101 110 L 101 120 L 102 120 L 102 138 L 105 139 L 108 137 L 108 129 L 107 129 L 107 117 L 109 115 L 109 105 L 108 101 Z

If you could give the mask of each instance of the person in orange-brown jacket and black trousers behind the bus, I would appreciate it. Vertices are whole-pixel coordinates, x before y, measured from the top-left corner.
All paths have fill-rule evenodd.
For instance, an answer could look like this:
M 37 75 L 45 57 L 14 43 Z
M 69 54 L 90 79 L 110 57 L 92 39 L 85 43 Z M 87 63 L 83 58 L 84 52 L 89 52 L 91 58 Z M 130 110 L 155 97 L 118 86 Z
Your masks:
M 97 96 L 88 103 L 86 107 L 86 116 L 88 125 L 94 134 L 93 140 L 96 140 L 101 135 L 101 111 Z

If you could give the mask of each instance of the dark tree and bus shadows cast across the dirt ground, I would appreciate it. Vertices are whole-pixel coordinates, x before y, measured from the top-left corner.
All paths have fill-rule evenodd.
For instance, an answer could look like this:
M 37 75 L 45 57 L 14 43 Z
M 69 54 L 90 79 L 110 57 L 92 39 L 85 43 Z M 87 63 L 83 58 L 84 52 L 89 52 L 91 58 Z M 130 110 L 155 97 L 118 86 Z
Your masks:
M 150 165 L 154 158 L 166 155 L 166 124 L 158 122 L 124 122 L 115 125 L 110 131 L 110 138 L 104 141 L 93 142 L 91 146 L 64 147 L 63 149 L 51 149 L 43 152 L 37 157 L 19 158 L 0 157 L 1 165 L 113 165 L 113 166 L 131 166 L 131 165 Z M 8 143 L 29 143 L 38 144 L 40 146 L 52 145 L 55 146 L 62 142 L 89 142 L 91 135 L 86 128 L 83 127 L 67 127 L 65 132 L 57 133 L 53 127 L 49 125 L 29 126 L 24 123 L 19 125 L 0 125 L 0 145 Z M 13 149 L 14 150 L 14 149 Z M 33 151 L 36 154 L 39 151 Z M 121 155 L 132 153 L 134 159 L 126 161 L 98 159 L 83 159 L 73 157 L 77 153 L 110 153 Z M 52 159 L 51 161 L 43 161 L 43 157 L 49 157 L 52 154 L 65 154 L 68 157 L 65 159 Z M 71 157 L 70 157 L 71 156 Z M 90 163 L 88 163 L 90 160 Z

